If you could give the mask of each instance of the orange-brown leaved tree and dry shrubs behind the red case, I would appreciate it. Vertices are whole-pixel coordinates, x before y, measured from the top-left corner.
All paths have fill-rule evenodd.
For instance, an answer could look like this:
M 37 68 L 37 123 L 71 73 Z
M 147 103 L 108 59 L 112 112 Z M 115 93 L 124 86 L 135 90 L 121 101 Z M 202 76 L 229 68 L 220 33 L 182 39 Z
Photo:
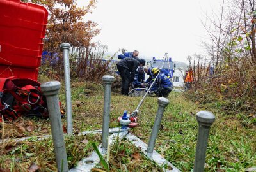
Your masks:
M 111 68 L 111 59 L 102 61 L 107 45 L 93 42 L 92 39 L 100 33 L 97 24 L 86 20 L 86 15 L 92 13 L 97 1 L 90 0 L 87 6 L 78 7 L 73 0 L 32 0 L 45 6 L 49 12 L 44 39 L 44 55 L 39 75 L 61 80 L 64 76 L 63 55 L 61 43 L 69 43 L 70 76 L 78 80 L 99 80 Z M 118 50 L 117 50 L 118 52 Z

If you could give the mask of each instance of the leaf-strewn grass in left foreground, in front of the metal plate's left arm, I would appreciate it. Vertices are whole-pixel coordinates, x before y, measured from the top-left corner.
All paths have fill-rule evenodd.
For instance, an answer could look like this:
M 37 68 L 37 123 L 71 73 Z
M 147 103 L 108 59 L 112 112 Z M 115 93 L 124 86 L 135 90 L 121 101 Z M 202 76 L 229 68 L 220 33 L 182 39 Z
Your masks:
M 100 141 L 100 134 L 65 137 L 68 166 L 72 168 L 92 152 L 91 143 Z M 40 166 L 40 171 L 57 171 L 52 138 L 38 141 L 36 137 L 1 145 L 0 168 L 10 171 L 27 171 L 31 164 Z

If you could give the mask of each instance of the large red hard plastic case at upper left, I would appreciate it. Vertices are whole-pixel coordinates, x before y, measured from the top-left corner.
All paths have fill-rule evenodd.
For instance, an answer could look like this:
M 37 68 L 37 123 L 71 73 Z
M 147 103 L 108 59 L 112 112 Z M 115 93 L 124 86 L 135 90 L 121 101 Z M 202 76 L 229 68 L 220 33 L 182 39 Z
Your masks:
M 47 17 L 43 6 L 0 0 L 0 77 L 9 76 L 3 69 L 10 66 L 13 74 L 37 80 Z

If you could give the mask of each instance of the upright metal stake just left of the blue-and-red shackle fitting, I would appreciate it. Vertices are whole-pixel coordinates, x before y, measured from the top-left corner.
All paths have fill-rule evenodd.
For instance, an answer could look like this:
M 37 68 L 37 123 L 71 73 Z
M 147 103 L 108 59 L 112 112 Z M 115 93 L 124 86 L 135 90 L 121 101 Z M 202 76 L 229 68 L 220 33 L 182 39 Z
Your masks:
M 111 85 L 114 82 L 114 76 L 103 76 L 104 84 L 104 109 L 103 109 L 103 125 L 102 125 L 102 150 L 108 147 L 109 136 L 109 111 L 110 111 L 110 98 L 111 98 Z

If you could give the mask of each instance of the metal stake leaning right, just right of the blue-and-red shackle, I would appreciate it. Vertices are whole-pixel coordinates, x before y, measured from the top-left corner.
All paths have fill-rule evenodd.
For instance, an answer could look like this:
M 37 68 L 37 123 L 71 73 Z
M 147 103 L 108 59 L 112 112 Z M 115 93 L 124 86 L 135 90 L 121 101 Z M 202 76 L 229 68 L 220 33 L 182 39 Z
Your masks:
M 150 139 L 148 141 L 148 148 L 147 148 L 147 154 L 150 155 L 152 154 L 154 147 L 155 147 L 155 143 L 156 143 L 156 137 L 159 131 L 159 127 L 161 124 L 161 120 L 163 117 L 163 113 L 164 113 L 164 108 L 169 104 L 169 100 L 164 98 L 164 97 L 159 97 L 158 98 L 158 110 L 157 110 L 157 114 L 156 114 L 156 118 L 155 118 L 155 122 L 154 122 L 154 126 L 152 129 L 152 133 L 150 135 Z

